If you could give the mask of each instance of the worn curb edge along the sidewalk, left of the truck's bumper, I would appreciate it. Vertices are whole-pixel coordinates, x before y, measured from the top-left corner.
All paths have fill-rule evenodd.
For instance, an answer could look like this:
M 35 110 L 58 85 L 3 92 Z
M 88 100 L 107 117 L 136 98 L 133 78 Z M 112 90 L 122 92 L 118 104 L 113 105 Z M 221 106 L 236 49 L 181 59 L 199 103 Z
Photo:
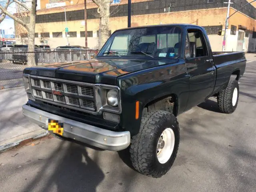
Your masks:
M 3 144 L 0 144 L 0 153 L 4 152 L 6 150 L 9 150 L 10 148 L 14 148 L 22 143 L 31 142 L 33 140 L 42 138 L 47 135 L 48 135 L 48 133 L 46 132 L 46 130 L 39 129 L 34 132 L 30 132 L 28 134 L 23 134 L 21 136 L 11 138 L 11 139 L 5 141 Z

